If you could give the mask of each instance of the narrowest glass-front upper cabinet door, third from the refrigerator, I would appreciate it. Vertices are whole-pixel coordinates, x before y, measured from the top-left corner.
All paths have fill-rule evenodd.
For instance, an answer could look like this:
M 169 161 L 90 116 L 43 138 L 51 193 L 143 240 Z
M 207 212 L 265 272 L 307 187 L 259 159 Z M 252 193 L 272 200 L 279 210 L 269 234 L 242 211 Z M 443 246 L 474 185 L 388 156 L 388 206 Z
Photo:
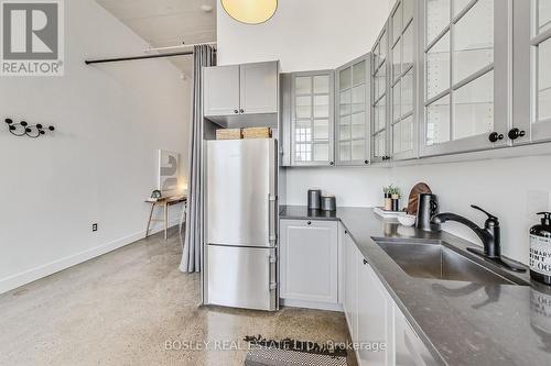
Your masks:
M 389 153 L 388 24 L 371 51 L 371 162 L 385 162 Z

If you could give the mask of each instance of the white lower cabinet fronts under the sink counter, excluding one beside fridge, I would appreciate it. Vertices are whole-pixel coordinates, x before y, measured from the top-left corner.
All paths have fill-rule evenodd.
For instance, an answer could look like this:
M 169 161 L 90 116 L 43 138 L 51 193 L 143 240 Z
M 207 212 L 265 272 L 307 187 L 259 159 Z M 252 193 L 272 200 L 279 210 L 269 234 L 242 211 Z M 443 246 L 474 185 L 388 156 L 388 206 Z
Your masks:
M 342 263 L 343 309 L 350 337 L 357 346 L 358 365 L 436 365 L 429 350 L 347 234 Z

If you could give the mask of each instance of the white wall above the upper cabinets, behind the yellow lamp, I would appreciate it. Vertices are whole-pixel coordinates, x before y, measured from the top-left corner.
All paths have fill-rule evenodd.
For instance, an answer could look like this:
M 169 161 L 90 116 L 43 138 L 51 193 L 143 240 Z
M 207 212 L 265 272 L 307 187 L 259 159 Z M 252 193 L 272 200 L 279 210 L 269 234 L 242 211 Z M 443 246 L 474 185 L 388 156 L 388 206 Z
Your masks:
M 241 24 L 218 2 L 218 64 L 279 59 L 284 73 L 335 68 L 371 49 L 393 0 L 279 0 L 268 22 Z

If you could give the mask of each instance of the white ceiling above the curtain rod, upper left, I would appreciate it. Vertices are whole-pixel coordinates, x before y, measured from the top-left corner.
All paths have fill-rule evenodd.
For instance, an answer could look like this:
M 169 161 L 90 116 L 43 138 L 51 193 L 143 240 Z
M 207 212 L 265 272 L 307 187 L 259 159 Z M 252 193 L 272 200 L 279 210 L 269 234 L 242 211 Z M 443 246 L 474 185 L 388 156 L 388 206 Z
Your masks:
M 216 0 L 96 1 L 153 47 L 216 41 Z M 213 10 L 205 12 L 202 5 L 210 5 Z M 170 59 L 185 74 L 191 74 L 192 57 Z

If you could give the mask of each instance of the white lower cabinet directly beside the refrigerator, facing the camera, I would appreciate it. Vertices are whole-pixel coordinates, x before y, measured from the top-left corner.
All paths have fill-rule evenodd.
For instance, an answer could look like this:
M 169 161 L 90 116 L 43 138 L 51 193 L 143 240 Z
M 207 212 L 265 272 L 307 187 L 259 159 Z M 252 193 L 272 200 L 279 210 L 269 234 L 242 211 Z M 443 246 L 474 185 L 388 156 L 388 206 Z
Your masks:
M 280 297 L 284 304 L 338 307 L 338 222 L 280 221 Z

